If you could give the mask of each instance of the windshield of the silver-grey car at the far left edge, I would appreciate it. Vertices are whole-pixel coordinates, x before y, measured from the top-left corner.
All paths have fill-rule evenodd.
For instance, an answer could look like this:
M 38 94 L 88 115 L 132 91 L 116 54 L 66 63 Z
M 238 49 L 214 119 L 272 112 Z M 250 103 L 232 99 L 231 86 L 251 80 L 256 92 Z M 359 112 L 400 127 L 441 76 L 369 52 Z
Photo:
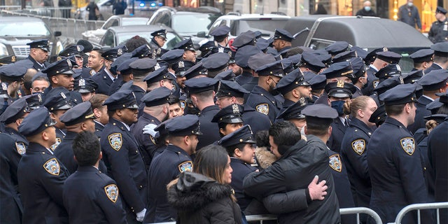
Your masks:
M 43 22 L 1 22 L 0 36 L 49 36 Z

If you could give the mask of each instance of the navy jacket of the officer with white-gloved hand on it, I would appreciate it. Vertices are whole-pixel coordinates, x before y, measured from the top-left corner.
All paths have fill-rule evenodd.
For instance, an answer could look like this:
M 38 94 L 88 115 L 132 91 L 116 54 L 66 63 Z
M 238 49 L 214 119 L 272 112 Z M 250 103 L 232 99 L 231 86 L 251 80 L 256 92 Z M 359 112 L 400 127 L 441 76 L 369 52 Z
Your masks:
M 160 121 L 148 113 L 143 113 L 139 118 L 139 121 L 131 127 L 131 133 L 134 134 L 135 139 L 137 139 L 137 144 L 139 144 L 146 170 L 149 169 L 155 151 L 158 149 L 158 146 L 155 145 L 155 139 L 150 134 L 143 133 L 143 128 L 149 124 L 160 125 Z

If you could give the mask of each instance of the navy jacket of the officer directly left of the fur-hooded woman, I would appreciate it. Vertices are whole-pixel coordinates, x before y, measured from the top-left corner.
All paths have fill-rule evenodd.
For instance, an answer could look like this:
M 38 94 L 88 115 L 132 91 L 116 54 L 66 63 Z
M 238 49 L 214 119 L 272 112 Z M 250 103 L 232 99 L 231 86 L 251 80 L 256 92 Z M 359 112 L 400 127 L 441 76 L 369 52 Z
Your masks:
M 168 204 L 167 184 L 182 172 L 193 172 L 190 155 L 182 148 L 169 144 L 153 159 L 148 172 L 148 211 L 144 223 L 161 223 L 176 218 L 176 209 Z

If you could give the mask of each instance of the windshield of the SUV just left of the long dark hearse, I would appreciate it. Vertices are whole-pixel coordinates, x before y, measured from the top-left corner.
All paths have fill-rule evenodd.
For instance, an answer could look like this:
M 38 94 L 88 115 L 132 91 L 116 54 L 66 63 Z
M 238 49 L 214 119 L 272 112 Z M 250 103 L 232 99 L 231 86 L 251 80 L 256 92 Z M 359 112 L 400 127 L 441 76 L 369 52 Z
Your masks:
M 239 20 L 238 30 L 235 34 L 235 30 L 230 31 L 232 36 L 238 36 L 244 31 L 248 30 L 259 30 L 263 36 L 273 36 L 275 29 L 279 27 L 284 27 L 285 23 L 288 22 L 286 19 L 272 20 L 270 18 L 259 19 L 259 20 Z

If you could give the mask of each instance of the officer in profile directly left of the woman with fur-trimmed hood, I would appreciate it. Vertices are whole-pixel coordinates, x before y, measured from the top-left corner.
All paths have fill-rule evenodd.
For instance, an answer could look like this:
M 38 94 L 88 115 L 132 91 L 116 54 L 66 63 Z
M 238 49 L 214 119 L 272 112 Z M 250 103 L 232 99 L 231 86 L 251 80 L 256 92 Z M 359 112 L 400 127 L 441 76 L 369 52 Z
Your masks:
M 176 218 L 176 210 L 167 201 L 167 184 L 182 172 L 193 172 L 190 155 L 195 153 L 197 137 L 202 134 L 199 122 L 197 116 L 186 115 L 166 123 L 169 145 L 153 159 L 149 167 L 148 212 L 144 223 L 160 223 Z

